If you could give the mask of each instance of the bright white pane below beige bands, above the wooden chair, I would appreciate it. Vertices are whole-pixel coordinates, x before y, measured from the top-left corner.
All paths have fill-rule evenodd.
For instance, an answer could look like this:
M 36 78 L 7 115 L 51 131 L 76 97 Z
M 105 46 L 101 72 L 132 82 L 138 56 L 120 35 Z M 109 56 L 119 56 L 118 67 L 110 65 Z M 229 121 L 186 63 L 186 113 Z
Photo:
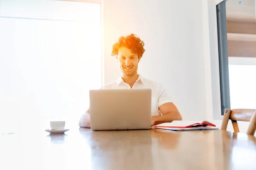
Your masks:
M 231 109 L 256 109 L 255 75 L 256 58 L 230 57 L 229 81 Z

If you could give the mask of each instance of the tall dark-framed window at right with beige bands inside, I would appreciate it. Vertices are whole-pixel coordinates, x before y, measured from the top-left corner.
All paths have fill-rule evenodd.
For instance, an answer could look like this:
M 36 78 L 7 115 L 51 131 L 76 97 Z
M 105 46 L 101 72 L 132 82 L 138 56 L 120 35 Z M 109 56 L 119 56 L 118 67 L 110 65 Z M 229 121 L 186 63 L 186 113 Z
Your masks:
M 225 108 L 256 109 L 255 13 L 251 0 L 217 5 L 222 115 Z

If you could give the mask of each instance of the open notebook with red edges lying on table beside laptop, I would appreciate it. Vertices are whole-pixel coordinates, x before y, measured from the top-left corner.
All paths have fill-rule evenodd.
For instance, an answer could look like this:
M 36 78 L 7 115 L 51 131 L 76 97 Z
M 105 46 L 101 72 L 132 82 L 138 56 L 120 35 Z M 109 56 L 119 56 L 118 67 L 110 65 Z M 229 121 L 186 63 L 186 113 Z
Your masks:
M 173 121 L 171 123 L 162 123 L 160 125 L 155 125 L 157 129 L 166 129 L 166 130 L 212 130 L 218 129 L 214 124 L 203 121 L 201 123 L 191 123 L 192 121 Z

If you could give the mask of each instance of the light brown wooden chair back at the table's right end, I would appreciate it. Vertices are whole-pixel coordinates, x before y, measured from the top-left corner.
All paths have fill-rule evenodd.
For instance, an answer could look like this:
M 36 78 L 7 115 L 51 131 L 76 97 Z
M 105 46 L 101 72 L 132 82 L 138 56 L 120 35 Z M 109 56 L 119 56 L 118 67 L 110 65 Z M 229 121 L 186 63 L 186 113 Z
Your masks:
M 256 130 L 256 109 L 226 109 L 221 123 L 221 130 L 227 130 L 229 119 L 232 122 L 234 132 L 239 132 L 237 121 L 250 122 L 247 134 L 254 135 Z

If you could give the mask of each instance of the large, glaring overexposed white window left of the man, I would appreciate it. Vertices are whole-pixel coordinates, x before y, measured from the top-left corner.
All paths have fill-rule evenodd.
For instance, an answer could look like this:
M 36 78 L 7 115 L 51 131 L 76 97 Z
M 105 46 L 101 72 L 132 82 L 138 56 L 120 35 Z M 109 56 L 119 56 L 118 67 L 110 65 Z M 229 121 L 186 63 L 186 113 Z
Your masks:
M 102 85 L 100 6 L 90 6 L 86 22 L 0 17 L 0 132 L 78 126 Z

